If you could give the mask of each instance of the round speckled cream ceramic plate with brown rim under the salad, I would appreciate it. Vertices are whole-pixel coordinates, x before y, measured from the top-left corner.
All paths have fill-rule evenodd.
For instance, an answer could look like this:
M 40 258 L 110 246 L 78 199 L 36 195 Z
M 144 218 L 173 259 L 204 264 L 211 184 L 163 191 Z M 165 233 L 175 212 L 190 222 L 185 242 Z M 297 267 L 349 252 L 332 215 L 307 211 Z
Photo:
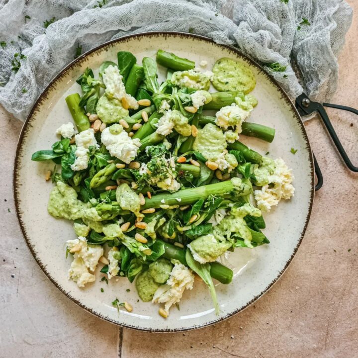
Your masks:
M 180 310 L 172 308 L 166 320 L 158 315 L 158 305 L 137 302 L 135 286 L 126 278 L 111 279 L 106 285 L 100 281 L 103 275 L 97 269 L 96 281 L 85 289 L 78 288 L 67 276 L 71 255 L 65 259 L 65 242 L 75 238 L 72 223 L 54 219 L 47 213 L 52 184 L 45 182 L 44 177 L 48 169 L 53 169 L 53 164 L 30 160 L 33 152 L 51 148 L 57 140 L 55 130 L 72 120 L 65 97 L 80 92 L 76 79 L 86 67 L 98 69 L 103 61 L 116 62 L 120 50 L 132 52 L 141 63 L 145 56 L 155 58 L 158 49 L 195 60 L 196 64 L 206 60 L 208 70 L 221 57 L 241 60 L 250 66 L 257 79 L 253 94 L 259 100 L 250 120 L 274 127 L 276 136 L 271 144 L 244 136 L 241 140 L 262 154 L 269 151 L 270 157 L 283 158 L 295 176 L 294 198 L 281 202 L 265 215 L 265 234 L 270 244 L 255 250 L 236 249 L 224 259 L 224 263 L 234 269 L 235 276 L 229 285 L 216 285 L 219 316 L 213 312 L 207 288 L 199 281 L 195 281 L 193 290 L 184 293 Z M 291 147 L 297 149 L 295 155 L 290 153 Z M 236 49 L 215 44 L 204 37 L 149 33 L 124 37 L 90 51 L 70 64 L 42 93 L 19 138 L 14 165 L 14 196 L 21 230 L 32 255 L 70 299 L 98 317 L 121 326 L 146 331 L 180 331 L 207 326 L 234 315 L 258 299 L 280 277 L 300 245 L 309 220 L 314 196 L 314 169 L 311 149 L 297 111 L 285 92 L 257 64 Z M 126 291 L 128 288 L 130 292 Z M 121 310 L 118 314 L 111 305 L 116 297 L 130 302 L 133 312 Z

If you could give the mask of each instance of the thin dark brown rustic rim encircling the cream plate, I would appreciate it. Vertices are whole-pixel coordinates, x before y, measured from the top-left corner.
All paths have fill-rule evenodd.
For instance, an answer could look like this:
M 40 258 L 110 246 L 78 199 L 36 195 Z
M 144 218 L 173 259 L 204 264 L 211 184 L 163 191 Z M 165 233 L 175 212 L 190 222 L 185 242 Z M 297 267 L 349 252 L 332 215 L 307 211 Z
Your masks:
M 306 142 L 306 149 L 308 150 L 309 153 L 309 164 L 310 164 L 310 169 L 311 169 L 311 192 L 310 192 L 310 203 L 309 203 L 309 209 L 307 212 L 307 216 L 306 216 L 306 220 L 305 220 L 305 224 L 303 227 L 303 230 L 301 232 L 301 236 L 299 238 L 299 241 L 297 243 L 297 246 L 295 247 L 291 257 L 289 258 L 289 260 L 286 262 L 284 268 L 278 273 L 278 275 L 275 277 L 274 280 L 272 280 L 269 285 L 258 295 L 256 295 L 251 301 L 247 302 L 244 306 L 228 313 L 227 315 L 220 317 L 218 319 L 214 319 L 212 321 L 206 322 L 204 324 L 199 324 L 199 325 L 193 325 L 192 327 L 188 327 L 188 328 L 179 328 L 179 329 L 147 329 L 147 328 L 141 328 L 141 327 L 137 327 L 137 326 L 131 326 L 128 324 L 123 324 L 123 323 L 119 323 L 115 320 L 109 319 L 108 317 L 104 317 L 101 314 L 94 312 L 92 309 L 90 309 L 89 307 L 85 306 L 82 302 L 76 300 L 74 297 L 71 297 L 60 285 L 59 283 L 56 281 L 56 279 L 54 277 L 52 277 L 49 272 L 47 271 L 47 269 L 43 266 L 41 259 L 39 257 L 37 257 L 37 255 L 35 254 L 32 244 L 29 240 L 29 238 L 27 237 L 26 234 L 26 230 L 24 227 L 24 224 L 22 222 L 22 218 L 21 218 L 21 211 L 20 211 L 20 198 L 18 197 L 18 170 L 17 170 L 17 164 L 19 161 L 19 156 L 20 156 L 20 152 L 21 152 L 21 146 L 22 146 L 22 140 L 24 138 L 24 136 L 26 135 L 27 129 L 31 127 L 31 119 L 32 119 L 32 115 L 36 109 L 36 107 L 41 104 L 41 101 L 47 97 L 48 95 L 48 91 L 49 89 L 52 87 L 52 85 L 54 83 L 56 83 L 56 81 L 61 78 L 67 70 L 69 70 L 71 67 L 73 67 L 74 65 L 81 63 L 82 60 L 84 58 L 86 58 L 87 56 L 89 56 L 91 53 L 96 52 L 97 50 L 103 49 L 111 44 L 114 43 L 120 43 L 120 42 L 126 42 L 128 40 L 131 40 L 132 38 L 137 38 L 137 37 L 151 37 L 151 36 L 157 36 L 157 35 L 168 35 L 168 36 L 178 36 L 180 38 L 197 38 L 206 42 L 209 42 L 211 44 L 215 44 L 215 46 L 219 46 L 225 49 L 228 49 L 230 51 L 233 51 L 235 53 L 237 53 L 239 56 L 245 58 L 252 66 L 256 67 L 258 69 L 258 71 L 263 74 L 271 83 L 274 87 L 276 87 L 276 89 L 279 90 L 279 92 L 282 94 L 281 99 L 284 100 L 286 102 L 286 104 L 290 107 L 291 111 L 293 112 L 293 115 L 295 117 L 295 119 L 297 120 L 300 129 L 301 129 L 301 133 L 303 135 L 303 139 Z M 43 92 L 39 95 L 38 99 L 36 100 L 35 104 L 33 105 L 29 115 L 26 118 L 26 121 L 24 122 L 22 129 L 21 129 L 21 133 L 17 142 L 17 147 L 16 147 L 16 155 L 15 155 L 15 160 L 14 160 L 14 167 L 13 167 L 13 196 L 14 196 L 14 202 L 15 202 L 15 209 L 16 209 L 16 216 L 17 216 L 17 221 L 19 223 L 20 229 L 21 229 L 21 233 L 22 236 L 26 242 L 26 245 L 28 247 L 28 249 L 30 250 L 32 256 L 34 257 L 36 263 L 39 265 L 39 267 L 42 269 L 42 271 L 44 272 L 44 274 L 52 281 L 52 283 L 63 293 L 65 294 L 69 299 L 71 299 L 74 303 L 76 303 L 77 305 L 79 305 L 80 307 L 82 307 L 83 309 L 85 309 L 87 312 L 91 313 L 92 315 L 99 317 L 107 322 L 113 323 L 117 326 L 120 327 L 125 327 L 125 328 L 130 328 L 130 329 L 134 329 L 134 330 L 139 330 L 139 331 L 146 331 L 146 332 L 155 332 L 155 333 L 159 333 L 159 332 L 184 332 L 184 331 L 190 331 L 190 330 L 194 330 L 194 329 L 198 329 L 198 328 L 203 328 L 206 326 L 210 326 L 212 324 L 224 321 L 234 315 L 236 315 L 239 312 L 242 312 L 244 309 L 246 309 L 247 307 L 249 307 L 251 304 L 253 304 L 256 300 L 258 300 L 260 297 L 262 297 L 276 282 L 277 280 L 282 276 L 282 274 L 285 272 L 285 270 L 288 268 L 289 264 L 292 262 L 294 256 L 296 255 L 296 252 L 298 250 L 298 248 L 301 245 L 301 242 L 303 240 L 303 237 L 305 235 L 306 229 L 307 229 L 307 225 L 311 216 L 311 212 L 312 212 L 312 205 L 313 205 L 313 199 L 314 199 L 314 193 L 315 193 L 315 172 L 314 172 L 314 164 L 313 164 L 313 154 L 312 154 L 312 149 L 308 140 L 308 136 L 305 130 L 305 126 L 303 124 L 303 121 L 296 109 L 296 107 L 294 106 L 293 102 L 291 101 L 291 99 L 289 98 L 289 96 L 287 95 L 287 93 L 285 92 L 285 90 L 271 77 L 269 76 L 269 74 L 263 69 L 263 67 L 261 65 L 259 65 L 256 61 L 254 61 L 253 59 L 251 59 L 250 57 L 242 54 L 240 52 L 239 49 L 233 47 L 233 46 L 229 46 L 229 45 L 222 45 L 222 44 L 217 44 L 215 43 L 211 38 L 209 37 L 205 37 L 205 36 L 201 36 L 201 35 L 195 35 L 195 34 L 188 34 L 188 33 L 183 33 L 183 32 L 176 32 L 176 31 L 152 31 L 152 32 L 143 32 L 143 33 L 137 33 L 137 34 L 132 34 L 132 35 L 127 35 L 127 36 L 123 36 L 120 37 L 118 39 L 115 40 L 111 40 L 111 41 L 107 41 L 105 43 L 103 43 L 100 46 L 97 46 L 95 48 L 93 48 L 92 50 L 89 50 L 88 52 L 84 53 L 83 55 L 81 55 L 80 57 L 78 57 L 77 59 L 75 59 L 74 61 L 72 61 L 69 65 L 67 65 L 50 83 L 49 85 L 43 90 Z

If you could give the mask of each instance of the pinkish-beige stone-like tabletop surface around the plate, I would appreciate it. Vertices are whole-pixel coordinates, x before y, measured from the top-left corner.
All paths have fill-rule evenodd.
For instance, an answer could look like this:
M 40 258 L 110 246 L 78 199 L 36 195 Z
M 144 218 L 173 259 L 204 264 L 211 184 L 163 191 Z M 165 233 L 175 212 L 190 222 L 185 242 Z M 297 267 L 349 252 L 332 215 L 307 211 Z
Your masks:
M 358 10 L 356 0 L 348 2 Z M 334 103 L 358 107 L 357 53 L 355 12 Z M 358 117 L 328 113 L 358 165 Z M 22 123 L 0 108 L 0 125 L 0 357 L 358 357 L 358 175 L 345 169 L 317 118 L 306 128 L 325 182 L 292 264 L 241 314 L 177 334 L 119 329 L 76 306 L 45 277 L 23 241 L 12 198 Z

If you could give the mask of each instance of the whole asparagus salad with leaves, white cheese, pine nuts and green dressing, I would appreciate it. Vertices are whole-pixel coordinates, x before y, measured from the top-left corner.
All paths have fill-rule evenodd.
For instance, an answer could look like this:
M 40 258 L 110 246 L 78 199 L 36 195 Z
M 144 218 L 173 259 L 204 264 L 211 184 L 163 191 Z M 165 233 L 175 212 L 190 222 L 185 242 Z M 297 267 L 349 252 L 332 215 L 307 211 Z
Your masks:
M 98 76 L 85 70 L 82 93 L 66 97 L 73 122 L 57 129 L 51 150 L 32 155 L 55 164 L 48 212 L 73 221 L 66 257 L 78 287 L 101 266 L 105 279 L 134 281 L 168 317 L 197 275 L 218 313 L 213 279 L 233 277 L 220 257 L 269 244 L 262 213 L 293 195 L 293 175 L 240 142 L 275 134 L 249 120 L 258 104 L 251 69 L 230 58 L 206 67 L 163 50 L 142 64 L 118 52 Z

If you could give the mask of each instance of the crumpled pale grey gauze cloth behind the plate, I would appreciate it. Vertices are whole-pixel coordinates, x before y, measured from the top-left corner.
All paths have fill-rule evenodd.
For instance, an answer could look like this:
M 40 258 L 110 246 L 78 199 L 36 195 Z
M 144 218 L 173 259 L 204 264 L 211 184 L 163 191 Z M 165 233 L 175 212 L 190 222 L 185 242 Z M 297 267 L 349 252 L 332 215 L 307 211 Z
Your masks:
M 80 47 L 164 30 L 238 46 L 292 99 L 329 100 L 351 21 L 342 0 L 0 0 L 0 103 L 24 120 Z

